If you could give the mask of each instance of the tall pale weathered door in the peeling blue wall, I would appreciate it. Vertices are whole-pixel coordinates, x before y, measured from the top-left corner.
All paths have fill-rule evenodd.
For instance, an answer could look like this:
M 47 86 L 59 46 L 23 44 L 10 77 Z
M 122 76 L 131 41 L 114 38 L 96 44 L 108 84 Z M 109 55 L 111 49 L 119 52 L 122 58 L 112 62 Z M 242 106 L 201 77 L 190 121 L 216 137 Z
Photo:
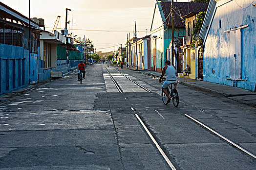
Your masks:
M 230 78 L 241 78 L 241 29 L 230 32 Z

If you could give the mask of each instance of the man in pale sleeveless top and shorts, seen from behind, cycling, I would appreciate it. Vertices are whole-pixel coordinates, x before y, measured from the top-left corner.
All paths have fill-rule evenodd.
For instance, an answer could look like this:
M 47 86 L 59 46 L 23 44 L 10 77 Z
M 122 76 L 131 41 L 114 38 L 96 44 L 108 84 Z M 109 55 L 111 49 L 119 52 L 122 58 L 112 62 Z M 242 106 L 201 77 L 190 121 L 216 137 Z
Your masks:
M 169 85 L 173 84 L 174 85 L 174 89 L 176 89 L 177 86 L 177 77 L 176 77 L 176 67 L 175 66 L 171 66 L 171 62 L 169 60 L 166 60 L 165 62 L 165 67 L 163 68 L 162 71 L 162 75 L 159 79 L 159 82 L 162 82 L 162 78 L 164 77 L 166 73 L 166 81 L 164 82 L 164 84 L 162 85 L 162 90 L 164 91 L 164 93 L 166 94 L 166 96 L 168 97 L 168 101 L 171 101 L 171 97 L 167 92 L 167 88 Z

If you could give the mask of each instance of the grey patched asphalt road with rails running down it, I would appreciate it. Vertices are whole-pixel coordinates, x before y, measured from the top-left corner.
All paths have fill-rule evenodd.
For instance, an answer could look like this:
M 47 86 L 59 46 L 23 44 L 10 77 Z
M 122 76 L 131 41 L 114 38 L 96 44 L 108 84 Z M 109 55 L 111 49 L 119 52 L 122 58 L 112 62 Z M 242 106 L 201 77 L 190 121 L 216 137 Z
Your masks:
M 107 66 L 106 66 L 107 67 Z M 103 65 L 6 97 L 0 105 L 0 170 L 170 170 L 142 119 L 177 170 L 255 170 L 256 109 L 177 85 L 176 108 L 161 101 L 158 79 Z M 135 111 L 133 111 L 132 109 Z

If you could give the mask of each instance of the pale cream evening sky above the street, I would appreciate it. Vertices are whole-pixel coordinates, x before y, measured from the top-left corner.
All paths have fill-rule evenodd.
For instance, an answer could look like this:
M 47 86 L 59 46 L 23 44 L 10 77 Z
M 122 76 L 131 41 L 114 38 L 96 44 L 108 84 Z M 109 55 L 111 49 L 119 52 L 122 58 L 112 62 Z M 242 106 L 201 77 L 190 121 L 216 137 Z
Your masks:
M 29 0 L 0 1 L 28 17 Z M 134 21 L 137 37 L 149 34 L 154 5 L 155 0 L 30 0 L 30 17 L 43 18 L 45 30 L 51 32 L 57 16 L 61 16 L 57 29 L 60 32 L 65 27 L 65 8 L 69 8 L 67 28 L 72 28 L 73 19 L 76 37 L 85 36 L 93 41 L 96 51 L 107 52 L 117 50 L 120 44 L 125 46 L 127 34 L 134 35 Z

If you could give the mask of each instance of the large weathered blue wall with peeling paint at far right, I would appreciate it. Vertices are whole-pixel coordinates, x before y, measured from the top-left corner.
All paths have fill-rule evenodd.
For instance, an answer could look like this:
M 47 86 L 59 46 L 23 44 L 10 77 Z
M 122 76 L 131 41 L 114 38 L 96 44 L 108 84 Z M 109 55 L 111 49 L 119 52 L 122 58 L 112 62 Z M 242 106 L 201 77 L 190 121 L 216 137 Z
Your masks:
M 215 6 L 215 13 L 209 33 L 205 39 L 204 51 L 204 76 L 203 80 L 224 84 L 237 85 L 244 89 L 254 90 L 256 85 L 256 7 L 250 5 L 252 0 L 220 0 Z M 238 6 L 239 4 L 239 6 Z M 247 8 L 246 8 L 247 7 Z M 236 30 L 236 37 L 233 33 L 224 32 L 239 27 L 249 25 L 247 28 Z M 234 42 L 235 41 L 235 42 Z M 235 45 L 236 43 L 236 45 Z M 234 65 L 233 61 L 239 62 L 240 68 Z M 232 72 L 241 71 L 239 77 L 246 81 L 229 80 Z M 237 70 L 239 69 L 239 70 Z

